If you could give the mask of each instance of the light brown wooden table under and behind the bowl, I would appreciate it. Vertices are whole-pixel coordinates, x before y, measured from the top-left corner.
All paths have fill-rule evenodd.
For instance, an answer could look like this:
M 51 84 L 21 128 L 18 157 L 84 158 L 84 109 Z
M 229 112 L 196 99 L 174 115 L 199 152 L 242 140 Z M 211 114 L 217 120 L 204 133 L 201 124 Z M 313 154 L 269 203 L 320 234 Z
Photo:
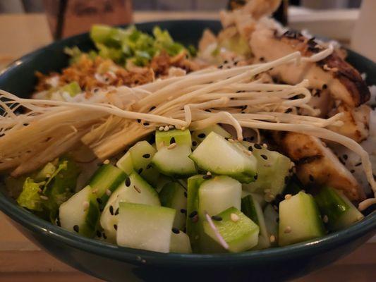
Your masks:
M 353 26 L 355 13 L 348 16 L 347 26 Z M 135 21 L 217 18 L 217 13 L 142 12 L 135 13 Z M 320 16 L 322 17 L 322 16 Z M 312 23 L 311 23 L 312 24 Z M 302 25 L 299 18 L 296 25 Z M 345 35 L 341 35 L 346 37 Z M 19 56 L 51 42 L 51 35 L 44 15 L 0 16 L 0 69 Z M 325 269 L 298 279 L 310 281 L 376 281 L 376 240 L 360 247 L 344 259 Z M 40 250 L 20 234 L 6 216 L 0 213 L 0 281 L 99 281 L 59 262 L 47 252 Z

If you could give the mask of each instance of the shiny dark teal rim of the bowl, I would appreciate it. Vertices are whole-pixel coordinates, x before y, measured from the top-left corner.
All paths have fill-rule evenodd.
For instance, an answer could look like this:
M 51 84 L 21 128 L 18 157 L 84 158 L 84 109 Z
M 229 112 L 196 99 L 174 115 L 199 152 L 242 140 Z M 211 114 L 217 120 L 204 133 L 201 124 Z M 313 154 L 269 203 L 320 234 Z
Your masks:
M 218 20 L 159 20 L 136 23 L 135 25 L 157 25 L 158 23 L 190 23 L 190 22 L 219 22 Z M 25 56 L 16 59 L 3 71 L 0 71 L 0 78 L 8 75 L 13 68 L 18 68 L 24 63 L 32 60 L 37 54 L 43 53 L 46 49 L 59 47 L 61 44 L 73 42 L 76 39 L 87 36 L 88 32 L 68 37 L 56 42 L 52 42 L 45 47 L 32 51 Z M 361 56 L 361 55 L 359 55 Z M 363 57 L 363 56 L 362 56 Z M 66 231 L 55 226 L 49 221 L 40 219 L 26 209 L 19 207 L 14 200 L 0 191 L 0 210 L 13 221 L 19 223 L 23 228 L 37 233 L 37 235 L 48 236 L 51 240 L 64 243 L 70 247 L 90 252 L 102 257 L 116 259 L 119 261 L 131 262 L 133 264 L 148 264 L 154 266 L 218 266 L 219 264 L 239 265 L 250 264 L 257 260 L 277 261 L 286 257 L 301 257 L 302 255 L 315 255 L 320 252 L 339 247 L 349 240 L 356 240 L 366 234 L 376 233 L 376 211 L 365 216 L 365 219 L 353 224 L 349 228 L 334 233 L 329 233 L 321 238 L 297 243 L 285 247 L 274 247 L 265 250 L 253 250 L 241 253 L 216 253 L 216 254 L 178 254 L 160 253 L 147 250 L 133 249 L 128 247 L 118 247 L 100 240 L 85 238 L 81 235 Z

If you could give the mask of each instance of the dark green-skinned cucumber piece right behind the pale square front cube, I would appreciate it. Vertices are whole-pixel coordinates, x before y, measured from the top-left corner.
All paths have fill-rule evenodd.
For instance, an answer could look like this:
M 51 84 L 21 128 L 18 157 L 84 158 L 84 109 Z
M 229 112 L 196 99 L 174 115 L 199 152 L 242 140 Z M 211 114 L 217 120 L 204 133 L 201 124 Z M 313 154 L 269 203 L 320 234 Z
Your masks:
M 159 192 L 159 200 L 162 206 L 176 209 L 174 228 L 179 230 L 183 230 L 186 226 L 187 197 L 185 195 L 186 190 L 176 182 L 166 183 L 161 192 Z

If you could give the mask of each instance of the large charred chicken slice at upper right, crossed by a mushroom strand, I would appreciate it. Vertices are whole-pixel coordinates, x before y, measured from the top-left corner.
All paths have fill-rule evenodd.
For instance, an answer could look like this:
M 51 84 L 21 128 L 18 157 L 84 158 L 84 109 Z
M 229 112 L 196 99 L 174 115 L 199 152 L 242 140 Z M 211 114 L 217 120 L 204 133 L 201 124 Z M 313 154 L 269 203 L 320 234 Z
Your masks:
M 314 39 L 307 39 L 300 33 L 285 32 L 278 36 L 271 27 L 257 24 L 250 39 L 250 47 L 256 58 L 272 61 L 294 51 L 303 56 L 312 56 L 324 49 Z M 336 51 L 317 63 L 302 62 L 284 64 L 271 71 L 277 79 L 296 84 L 303 79 L 310 81 L 310 87 L 328 89 L 332 97 L 351 107 L 359 106 L 370 99 L 367 85 L 350 64 L 346 63 Z

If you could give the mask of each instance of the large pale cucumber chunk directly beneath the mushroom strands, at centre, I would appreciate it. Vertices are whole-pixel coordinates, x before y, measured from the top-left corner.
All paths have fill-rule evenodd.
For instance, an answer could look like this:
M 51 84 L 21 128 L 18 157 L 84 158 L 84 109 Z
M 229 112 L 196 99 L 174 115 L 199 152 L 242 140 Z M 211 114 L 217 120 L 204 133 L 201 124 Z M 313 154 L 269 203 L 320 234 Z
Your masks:
M 190 154 L 206 171 L 231 176 L 243 183 L 255 180 L 257 160 L 217 133 L 210 133 Z

